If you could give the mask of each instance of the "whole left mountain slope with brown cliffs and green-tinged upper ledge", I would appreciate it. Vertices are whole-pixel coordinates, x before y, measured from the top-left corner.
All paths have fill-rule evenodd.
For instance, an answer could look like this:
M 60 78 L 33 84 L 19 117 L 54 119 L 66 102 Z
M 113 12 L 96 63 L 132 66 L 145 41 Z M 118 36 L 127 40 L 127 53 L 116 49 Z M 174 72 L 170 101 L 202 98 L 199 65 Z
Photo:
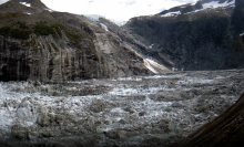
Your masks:
M 39 2 L 11 0 L 0 6 L 0 81 L 63 82 L 153 73 L 144 56 L 105 24 L 52 12 Z

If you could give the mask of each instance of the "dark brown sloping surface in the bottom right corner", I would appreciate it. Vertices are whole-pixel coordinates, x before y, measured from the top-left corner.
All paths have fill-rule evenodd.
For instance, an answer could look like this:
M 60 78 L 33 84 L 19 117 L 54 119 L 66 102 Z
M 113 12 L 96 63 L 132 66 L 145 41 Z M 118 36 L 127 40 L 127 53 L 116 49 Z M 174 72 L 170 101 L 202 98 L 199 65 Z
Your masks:
M 225 113 L 179 143 L 179 147 L 241 147 L 244 144 L 244 95 Z

